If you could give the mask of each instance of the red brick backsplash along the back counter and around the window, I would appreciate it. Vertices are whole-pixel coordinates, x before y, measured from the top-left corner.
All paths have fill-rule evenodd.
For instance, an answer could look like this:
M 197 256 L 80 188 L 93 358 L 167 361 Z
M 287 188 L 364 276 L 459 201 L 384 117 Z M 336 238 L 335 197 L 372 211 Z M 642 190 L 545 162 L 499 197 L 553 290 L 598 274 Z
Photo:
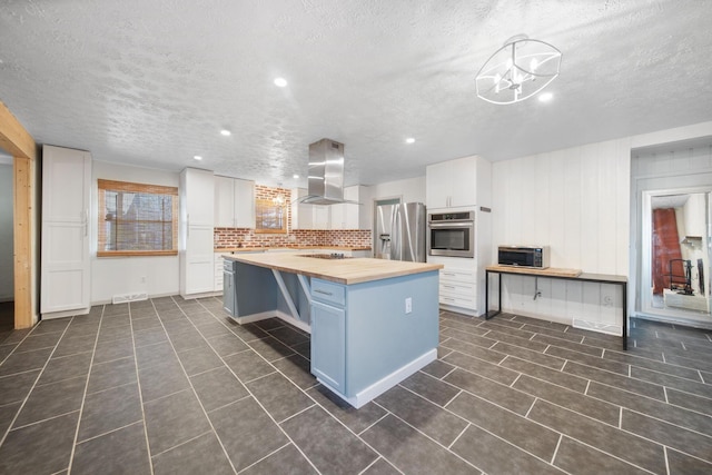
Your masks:
M 246 228 L 215 228 L 216 249 L 235 247 L 300 247 L 300 246 L 345 246 L 370 247 L 370 230 L 364 229 L 291 229 L 291 209 L 288 206 L 290 191 L 287 188 L 274 188 L 255 185 L 256 199 L 274 199 L 281 196 L 286 202 L 287 234 L 255 234 Z

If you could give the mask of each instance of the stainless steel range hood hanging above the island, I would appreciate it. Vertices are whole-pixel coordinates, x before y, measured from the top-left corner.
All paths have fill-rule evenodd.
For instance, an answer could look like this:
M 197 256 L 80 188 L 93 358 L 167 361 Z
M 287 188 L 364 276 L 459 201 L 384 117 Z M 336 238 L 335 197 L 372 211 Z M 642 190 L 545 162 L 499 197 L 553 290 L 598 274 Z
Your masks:
M 309 145 L 308 195 L 300 202 L 336 205 L 344 200 L 344 144 L 322 139 Z

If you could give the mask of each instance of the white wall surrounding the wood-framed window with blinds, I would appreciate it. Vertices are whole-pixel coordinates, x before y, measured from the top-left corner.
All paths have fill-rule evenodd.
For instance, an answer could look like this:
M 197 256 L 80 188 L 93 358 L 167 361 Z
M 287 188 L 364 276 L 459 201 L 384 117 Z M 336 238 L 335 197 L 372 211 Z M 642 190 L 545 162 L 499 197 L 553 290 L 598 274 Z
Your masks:
M 149 297 L 179 291 L 178 256 L 97 257 L 97 179 L 177 187 L 179 174 L 102 161 L 92 164 L 91 303 L 111 301 L 113 295 L 145 291 Z

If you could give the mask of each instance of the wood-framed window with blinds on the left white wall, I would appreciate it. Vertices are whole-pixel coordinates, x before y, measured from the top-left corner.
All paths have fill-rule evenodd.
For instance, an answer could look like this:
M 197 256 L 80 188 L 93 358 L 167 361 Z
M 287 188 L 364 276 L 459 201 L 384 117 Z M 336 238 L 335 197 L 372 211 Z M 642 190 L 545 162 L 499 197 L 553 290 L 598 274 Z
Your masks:
M 98 257 L 178 254 L 178 188 L 98 180 Z

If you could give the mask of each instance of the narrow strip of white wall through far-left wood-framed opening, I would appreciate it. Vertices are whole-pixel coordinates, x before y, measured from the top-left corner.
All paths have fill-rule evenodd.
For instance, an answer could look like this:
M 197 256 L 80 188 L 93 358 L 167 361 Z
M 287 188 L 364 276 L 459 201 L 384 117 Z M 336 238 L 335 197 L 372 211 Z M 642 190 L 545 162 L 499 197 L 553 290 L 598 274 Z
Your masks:
M 14 299 L 12 165 L 0 162 L 0 301 Z

